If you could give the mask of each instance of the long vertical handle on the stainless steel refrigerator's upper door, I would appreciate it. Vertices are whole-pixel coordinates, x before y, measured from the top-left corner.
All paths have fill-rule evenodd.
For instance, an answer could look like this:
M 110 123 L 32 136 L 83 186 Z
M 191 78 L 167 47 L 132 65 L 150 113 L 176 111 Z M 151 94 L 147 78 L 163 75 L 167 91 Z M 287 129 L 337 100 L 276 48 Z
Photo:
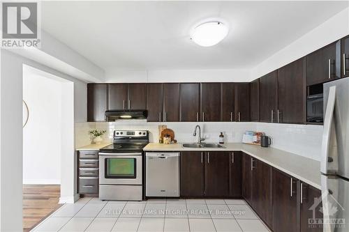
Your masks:
M 336 101 L 336 86 L 329 87 L 327 106 L 325 111 L 324 130 L 322 134 L 322 149 L 321 149 L 321 169 L 322 173 L 327 174 L 329 160 L 329 140 L 334 116 L 334 103 Z

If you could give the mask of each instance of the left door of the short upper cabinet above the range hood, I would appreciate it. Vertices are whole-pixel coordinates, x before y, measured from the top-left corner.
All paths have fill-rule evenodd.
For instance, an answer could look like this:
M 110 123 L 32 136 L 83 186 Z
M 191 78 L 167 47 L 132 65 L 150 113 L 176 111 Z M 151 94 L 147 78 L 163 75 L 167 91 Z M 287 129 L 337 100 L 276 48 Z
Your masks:
M 127 109 L 127 84 L 108 84 L 109 109 Z

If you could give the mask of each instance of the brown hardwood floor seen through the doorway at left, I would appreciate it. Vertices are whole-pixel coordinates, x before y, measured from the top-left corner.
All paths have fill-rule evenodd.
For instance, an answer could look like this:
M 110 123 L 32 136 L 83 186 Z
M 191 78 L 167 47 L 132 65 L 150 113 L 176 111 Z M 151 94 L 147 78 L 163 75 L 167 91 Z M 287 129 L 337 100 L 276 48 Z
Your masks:
M 23 185 L 23 231 L 30 231 L 62 206 L 60 190 L 60 185 Z

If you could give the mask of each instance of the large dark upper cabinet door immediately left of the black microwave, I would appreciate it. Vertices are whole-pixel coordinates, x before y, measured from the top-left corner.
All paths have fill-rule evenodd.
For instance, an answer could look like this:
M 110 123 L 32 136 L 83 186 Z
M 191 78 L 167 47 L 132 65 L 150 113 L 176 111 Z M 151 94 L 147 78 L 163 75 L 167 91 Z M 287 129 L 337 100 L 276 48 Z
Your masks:
M 277 123 L 305 123 L 305 58 L 279 68 Z

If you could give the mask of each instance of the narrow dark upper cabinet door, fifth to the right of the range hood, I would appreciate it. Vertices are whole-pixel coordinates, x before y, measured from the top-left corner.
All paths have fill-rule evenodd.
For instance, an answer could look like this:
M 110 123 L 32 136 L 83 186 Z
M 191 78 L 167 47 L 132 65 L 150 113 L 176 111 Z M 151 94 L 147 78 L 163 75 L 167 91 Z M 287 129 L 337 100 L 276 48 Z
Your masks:
M 235 121 L 235 83 L 221 83 L 221 121 Z

